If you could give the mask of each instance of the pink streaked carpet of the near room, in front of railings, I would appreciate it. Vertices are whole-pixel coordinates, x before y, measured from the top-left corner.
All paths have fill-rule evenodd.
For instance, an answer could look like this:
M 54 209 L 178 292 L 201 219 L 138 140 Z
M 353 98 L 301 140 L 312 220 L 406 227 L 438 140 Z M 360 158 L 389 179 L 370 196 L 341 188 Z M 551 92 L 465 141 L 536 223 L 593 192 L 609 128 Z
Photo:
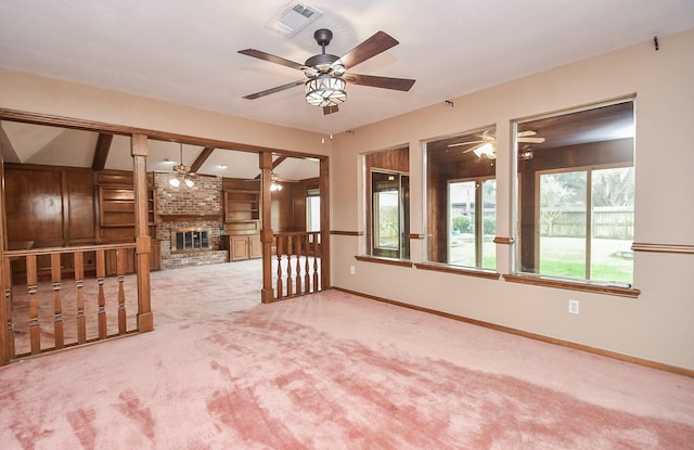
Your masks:
M 694 380 L 330 291 L 0 369 L 2 449 L 687 449 Z

